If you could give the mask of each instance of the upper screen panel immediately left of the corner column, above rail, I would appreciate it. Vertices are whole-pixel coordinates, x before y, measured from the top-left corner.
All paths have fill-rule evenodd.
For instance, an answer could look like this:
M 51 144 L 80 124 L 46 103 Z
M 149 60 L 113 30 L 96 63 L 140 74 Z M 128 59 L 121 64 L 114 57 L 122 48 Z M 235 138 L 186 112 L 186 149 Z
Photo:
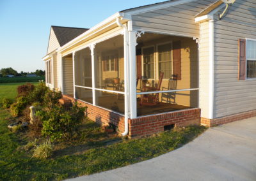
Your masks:
M 124 92 L 124 37 L 121 35 L 95 46 L 95 87 Z

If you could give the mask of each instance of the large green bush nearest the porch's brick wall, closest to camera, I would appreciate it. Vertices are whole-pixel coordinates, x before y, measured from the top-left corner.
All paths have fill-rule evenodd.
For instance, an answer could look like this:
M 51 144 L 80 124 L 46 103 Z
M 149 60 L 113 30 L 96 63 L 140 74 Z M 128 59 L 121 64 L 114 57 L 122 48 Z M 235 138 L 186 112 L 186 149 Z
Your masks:
M 41 110 L 36 115 L 42 120 L 42 134 L 52 139 L 64 138 L 70 140 L 84 119 L 86 108 L 73 105 L 70 110 L 62 106 L 54 106 L 51 110 Z

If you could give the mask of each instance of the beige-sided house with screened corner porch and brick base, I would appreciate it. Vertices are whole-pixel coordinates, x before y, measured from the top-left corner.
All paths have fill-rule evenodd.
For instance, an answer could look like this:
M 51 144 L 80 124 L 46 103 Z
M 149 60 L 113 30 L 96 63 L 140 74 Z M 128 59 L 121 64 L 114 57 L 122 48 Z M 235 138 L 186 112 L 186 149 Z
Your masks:
M 256 116 L 256 2 L 223 1 L 140 6 L 91 29 L 52 26 L 47 86 L 131 137 Z

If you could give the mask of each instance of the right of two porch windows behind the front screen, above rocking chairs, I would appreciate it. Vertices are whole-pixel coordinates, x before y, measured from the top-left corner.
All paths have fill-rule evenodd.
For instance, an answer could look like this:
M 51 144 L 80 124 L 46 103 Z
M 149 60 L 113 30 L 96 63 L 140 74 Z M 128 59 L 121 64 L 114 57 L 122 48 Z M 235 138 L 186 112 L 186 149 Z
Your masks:
M 172 44 L 158 46 L 158 66 L 160 71 L 164 73 L 163 78 L 172 77 Z

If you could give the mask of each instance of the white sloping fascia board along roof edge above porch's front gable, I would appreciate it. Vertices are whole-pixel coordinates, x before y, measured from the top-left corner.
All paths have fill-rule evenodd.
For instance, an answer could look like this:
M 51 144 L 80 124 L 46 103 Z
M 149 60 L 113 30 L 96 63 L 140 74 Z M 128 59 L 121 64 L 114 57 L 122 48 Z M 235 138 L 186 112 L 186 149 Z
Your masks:
M 162 8 L 168 8 L 172 6 L 177 6 L 179 4 L 185 4 L 190 3 L 196 0 L 177 0 L 177 1 L 170 1 L 170 3 L 163 3 L 163 4 L 152 4 L 152 6 L 148 7 L 141 7 L 141 8 L 135 8 L 134 10 L 125 10 L 125 13 L 128 13 L 129 15 L 138 15 L 140 13 L 147 13 L 148 11 L 154 11 L 159 10 Z

